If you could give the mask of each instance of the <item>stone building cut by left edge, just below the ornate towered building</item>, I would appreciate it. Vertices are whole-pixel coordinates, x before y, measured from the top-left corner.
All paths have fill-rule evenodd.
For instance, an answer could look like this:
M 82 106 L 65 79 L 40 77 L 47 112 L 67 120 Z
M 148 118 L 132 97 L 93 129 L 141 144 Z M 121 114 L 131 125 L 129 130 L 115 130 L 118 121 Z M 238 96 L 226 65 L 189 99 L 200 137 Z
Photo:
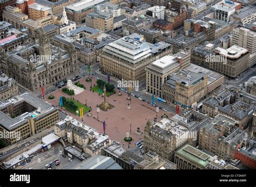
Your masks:
M 7 100 L 18 95 L 18 84 L 13 78 L 0 73 L 0 100 Z

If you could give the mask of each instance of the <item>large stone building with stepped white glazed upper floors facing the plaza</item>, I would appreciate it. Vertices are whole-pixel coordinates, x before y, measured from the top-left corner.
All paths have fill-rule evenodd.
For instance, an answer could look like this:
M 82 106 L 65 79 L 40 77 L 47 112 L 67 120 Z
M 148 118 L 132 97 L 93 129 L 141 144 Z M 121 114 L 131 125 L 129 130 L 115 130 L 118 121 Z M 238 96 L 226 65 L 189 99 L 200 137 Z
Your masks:
M 99 54 L 100 69 L 119 79 L 145 81 L 145 68 L 171 54 L 172 48 L 165 42 L 150 44 L 143 40 L 143 35 L 133 33 L 106 45 Z

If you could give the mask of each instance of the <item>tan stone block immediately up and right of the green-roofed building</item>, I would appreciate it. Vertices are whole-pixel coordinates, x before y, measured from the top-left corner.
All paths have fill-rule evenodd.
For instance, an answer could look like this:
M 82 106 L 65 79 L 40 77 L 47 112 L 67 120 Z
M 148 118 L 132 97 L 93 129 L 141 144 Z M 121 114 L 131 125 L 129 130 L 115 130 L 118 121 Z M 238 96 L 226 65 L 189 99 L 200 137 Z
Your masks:
M 237 121 L 221 114 L 213 119 L 203 121 L 199 131 L 199 148 L 211 152 L 221 159 L 234 159 L 235 150 L 239 145 L 246 144 L 247 130 L 241 130 Z M 250 136 L 250 135 L 249 135 Z

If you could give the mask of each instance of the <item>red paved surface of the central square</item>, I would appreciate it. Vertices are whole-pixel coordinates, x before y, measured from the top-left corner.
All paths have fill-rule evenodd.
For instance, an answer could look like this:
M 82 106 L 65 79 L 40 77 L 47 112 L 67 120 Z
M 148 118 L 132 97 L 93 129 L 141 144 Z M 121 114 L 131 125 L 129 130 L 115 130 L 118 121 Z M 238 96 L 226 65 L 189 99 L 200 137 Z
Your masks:
M 85 124 L 103 133 L 103 125 L 100 121 L 105 120 L 106 134 L 109 135 L 111 139 L 114 139 L 120 143 L 123 143 L 125 147 L 128 146 L 128 143 L 124 141 L 124 138 L 127 132 L 130 133 L 130 124 L 132 124 L 130 136 L 133 138 L 133 141 L 131 142 L 130 147 L 134 146 L 134 143 L 139 141 L 139 139 L 143 139 L 144 127 L 146 125 L 147 119 L 150 118 L 150 120 L 153 120 L 153 118 L 156 117 L 155 107 L 143 102 L 142 100 L 132 97 L 131 105 L 130 105 L 131 109 L 127 109 L 127 103 L 130 103 L 130 101 L 126 99 L 127 93 L 121 91 L 122 96 L 118 96 L 119 90 L 116 89 L 117 93 L 115 93 L 110 97 L 106 97 L 106 100 L 110 104 L 114 105 L 114 108 L 107 112 L 100 110 L 99 112 L 100 121 L 98 121 L 93 117 L 97 118 L 97 111 L 96 111 L 97 104 L 98 105 L 101 104 L 104 101 L 104 98 L 102 96 L 99 96 L 98 93 L 96 92 L 93 93 L 92 91 L 90 91 L 91 83 L 86 82 L 85 78 L 82 78 L 79 81 L 80 83 L 85 85 L 86 90 L 80 93 L 79 95 L 72 96 L 72 98 L 78 100 L 80 103 L 86 103 L 85 99 L 87 99 L 87 106 L 92 107 L 92 111 L 91 111 L 92 117 L 87 117 L 84 114 Z M 93 85 L 97 85 L 95 78 L 93 78 L 92 86 Z M 60 96 L 70 97 L 65 93 L 63 93 L 62 89 L 59 89 L 53 92 L 52 95 L 55 96 L 55 99 L 51 100 L 51 99 L 48 99 L 48 96 L 45 96 L 45 100 L 57 106 L 58 106 Z M 144 104 L 145 106 L 143 106 L 142 104 Z M 150 107 L 150 109 L 147 107 Z M 80 118 L 78 118 L 74 114 L 68 111 L 65 111 L 65 112 L 70 114 L 72 117 L 76 117 L 77 119 L 80 120 Z M 159 110 L 158 120 L 160 120 L 162 114 L 163 114 L 163 111 Z M 137 127 L 140 128 L 143 134 L 141 135 L 135 134 L 135 132 L 137 131 Z

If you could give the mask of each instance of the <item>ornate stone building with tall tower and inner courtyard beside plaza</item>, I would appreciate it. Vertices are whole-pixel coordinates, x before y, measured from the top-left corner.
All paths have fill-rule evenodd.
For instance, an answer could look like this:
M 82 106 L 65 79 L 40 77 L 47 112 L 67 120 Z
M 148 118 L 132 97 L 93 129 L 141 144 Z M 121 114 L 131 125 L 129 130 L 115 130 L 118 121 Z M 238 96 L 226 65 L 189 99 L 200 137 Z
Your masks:
M 32 42 L 19 51 L 1 54 L 1 69 L 31 91 L 62 80 L 78 71 L 75 46 L 65 51 L 50 45 L 43 30 L 38 30 L 39 42 Z M 39 56 L 39 58 L 38 58 Z

